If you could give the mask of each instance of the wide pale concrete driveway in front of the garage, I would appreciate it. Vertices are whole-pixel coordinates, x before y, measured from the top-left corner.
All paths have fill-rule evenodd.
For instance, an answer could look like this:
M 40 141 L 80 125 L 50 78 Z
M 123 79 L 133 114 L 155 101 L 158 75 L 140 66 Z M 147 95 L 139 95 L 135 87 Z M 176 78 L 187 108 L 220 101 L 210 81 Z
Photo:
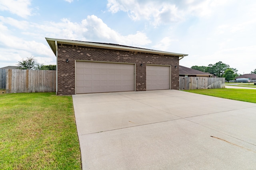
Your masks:
M 85 169 L 256 169 L 256 104 L 154 90 L 77 94 Z

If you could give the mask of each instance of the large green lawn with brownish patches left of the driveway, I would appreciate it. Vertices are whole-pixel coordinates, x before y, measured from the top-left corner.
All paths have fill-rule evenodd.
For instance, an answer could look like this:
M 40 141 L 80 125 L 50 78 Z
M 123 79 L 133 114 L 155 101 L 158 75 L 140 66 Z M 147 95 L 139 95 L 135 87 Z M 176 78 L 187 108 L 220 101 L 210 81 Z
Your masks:
M 81 169 L 71 96 L 0 94 L 0 169 Z

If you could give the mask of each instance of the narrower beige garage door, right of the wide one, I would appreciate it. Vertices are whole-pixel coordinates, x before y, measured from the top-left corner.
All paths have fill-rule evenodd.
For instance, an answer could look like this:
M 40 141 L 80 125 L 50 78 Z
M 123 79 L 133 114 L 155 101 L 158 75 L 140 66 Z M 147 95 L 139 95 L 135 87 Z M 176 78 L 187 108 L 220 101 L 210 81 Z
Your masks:
M 170 66 L 146 65 L 146 90 L 170 89 Z

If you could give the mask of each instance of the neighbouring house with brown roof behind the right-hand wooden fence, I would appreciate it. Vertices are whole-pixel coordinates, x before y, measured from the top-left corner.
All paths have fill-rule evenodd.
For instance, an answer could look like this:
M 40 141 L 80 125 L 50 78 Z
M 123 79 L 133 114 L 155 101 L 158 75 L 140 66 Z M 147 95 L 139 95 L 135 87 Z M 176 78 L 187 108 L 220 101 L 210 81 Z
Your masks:
M 213 74 L 207 73 L 207 72 L 202 72 L 199 70 L 194 70 L 192 68 L 184 67 L 184 66 L 179 66 L 179 71 L 180 71 L 180 76 L 181 77 L 212 77 L 214 76 Z

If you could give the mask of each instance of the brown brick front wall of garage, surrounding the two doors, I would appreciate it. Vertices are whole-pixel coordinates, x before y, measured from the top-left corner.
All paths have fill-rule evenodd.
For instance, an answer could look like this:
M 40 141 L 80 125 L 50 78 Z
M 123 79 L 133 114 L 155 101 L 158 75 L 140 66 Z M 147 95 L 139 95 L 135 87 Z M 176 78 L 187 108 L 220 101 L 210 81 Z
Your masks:
M 136 91 L 146 90 L 146 64 L 171 65 L 171 89 L 179 89 L 179 57 L 58 44 L 57 95 L 75 94 L 75 60 L 136 63 Z

